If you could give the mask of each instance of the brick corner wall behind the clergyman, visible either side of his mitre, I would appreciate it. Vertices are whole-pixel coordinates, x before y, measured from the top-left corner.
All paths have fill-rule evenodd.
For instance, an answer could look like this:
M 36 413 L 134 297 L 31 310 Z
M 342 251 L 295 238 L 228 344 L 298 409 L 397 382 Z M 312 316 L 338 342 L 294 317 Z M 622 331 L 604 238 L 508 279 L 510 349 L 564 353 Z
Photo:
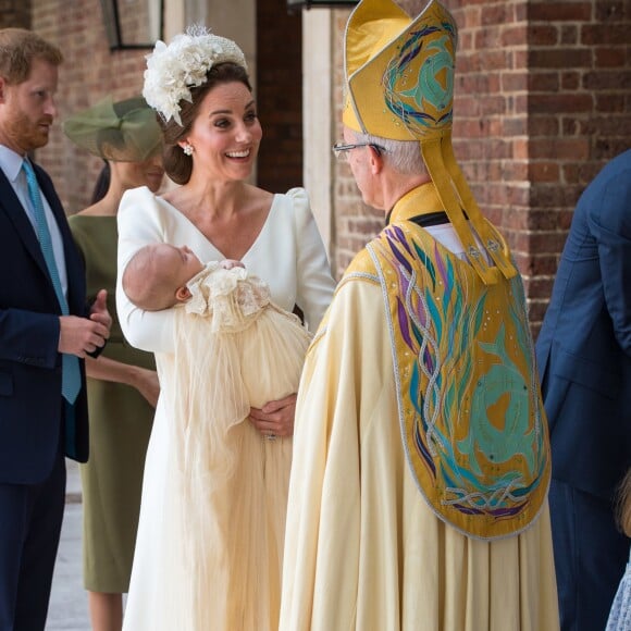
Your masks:
M 456 157 L 512 248 L 536 332 L 578 197 L 631 147 L 631 2 L 444 1 L 460 35 Z M 419 9 L 418 1 L 399 4 Z M 349 12 L 336 13 L 339 67 Z M 341 94 L 342 75 L 335 81 Z M 349 175 L 337 166 L 337 275 L 382 222 Z

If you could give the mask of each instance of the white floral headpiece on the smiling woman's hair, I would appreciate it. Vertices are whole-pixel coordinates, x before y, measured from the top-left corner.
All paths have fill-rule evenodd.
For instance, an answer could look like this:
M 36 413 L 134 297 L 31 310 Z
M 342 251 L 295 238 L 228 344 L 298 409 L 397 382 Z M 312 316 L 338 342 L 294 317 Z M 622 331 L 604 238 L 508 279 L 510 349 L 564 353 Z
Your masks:
M 169 45 L 156 42 L 147 55 L 143 96 L 164 121 L 174 119 L 182 125 L 180 101 L 191 102 L 190 88 L 206 83 L 213 64 L 228 61 L 247 70 L 246 58 L 232 39 L 213 35 L 202 25 L 189 26 Z

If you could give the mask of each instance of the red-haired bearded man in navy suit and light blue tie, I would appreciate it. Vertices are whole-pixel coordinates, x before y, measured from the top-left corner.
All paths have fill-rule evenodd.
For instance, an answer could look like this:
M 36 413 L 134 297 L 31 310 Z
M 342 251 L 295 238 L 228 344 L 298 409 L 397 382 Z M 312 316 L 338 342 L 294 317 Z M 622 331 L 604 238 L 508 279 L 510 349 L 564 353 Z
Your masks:
M 28 160 L 57 109 L 61 52 L 0 30 L 0 631 L 45 628 L 65 495 L 64 454 L 88 456 L 83 358 L 111 323 L 50 177 Z

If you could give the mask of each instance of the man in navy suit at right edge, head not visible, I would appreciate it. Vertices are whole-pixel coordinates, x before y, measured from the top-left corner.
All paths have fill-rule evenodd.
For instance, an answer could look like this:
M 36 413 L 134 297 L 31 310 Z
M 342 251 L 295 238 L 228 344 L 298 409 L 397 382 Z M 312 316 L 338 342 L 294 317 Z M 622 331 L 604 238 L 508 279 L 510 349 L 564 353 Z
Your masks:
M 630 543 L 615 496 L 631 456 L 631 150 L 579 200 L 536 355 L 561 629 L 601 631 Z

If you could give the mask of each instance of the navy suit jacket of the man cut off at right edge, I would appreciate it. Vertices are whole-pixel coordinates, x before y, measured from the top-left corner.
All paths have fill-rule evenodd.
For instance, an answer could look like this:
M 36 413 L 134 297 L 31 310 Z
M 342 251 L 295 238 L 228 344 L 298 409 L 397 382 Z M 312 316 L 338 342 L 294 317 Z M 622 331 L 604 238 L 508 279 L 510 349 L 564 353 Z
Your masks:
M 631 150 L 577 205 L 536 357 L 553 478 L 610 499 L 631 456 Z

